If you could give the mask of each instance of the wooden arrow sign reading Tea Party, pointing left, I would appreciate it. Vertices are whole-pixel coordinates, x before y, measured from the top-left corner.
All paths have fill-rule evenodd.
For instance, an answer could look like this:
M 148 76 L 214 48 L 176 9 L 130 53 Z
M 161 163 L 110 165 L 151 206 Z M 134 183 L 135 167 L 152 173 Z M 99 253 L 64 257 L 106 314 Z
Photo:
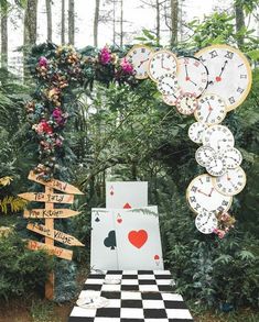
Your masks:
M 18 195 L 29 201 L 50 202 L 50 203 L 73 203 L 73 195 L 58 195 L 58 193 L 43 193 L 43 192 L 25 192 Z

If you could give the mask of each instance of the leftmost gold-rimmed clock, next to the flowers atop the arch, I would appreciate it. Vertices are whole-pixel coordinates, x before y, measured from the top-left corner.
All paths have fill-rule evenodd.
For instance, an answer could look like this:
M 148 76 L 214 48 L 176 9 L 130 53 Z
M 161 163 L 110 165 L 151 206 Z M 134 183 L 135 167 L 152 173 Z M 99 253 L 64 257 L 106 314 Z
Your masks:
M 148 66 L 152 53 L 153 51 L 145 45 L 134 45 L 126 55 L 128 62 L 134 67 L 136 78 L 144 79 L 149 77 Z

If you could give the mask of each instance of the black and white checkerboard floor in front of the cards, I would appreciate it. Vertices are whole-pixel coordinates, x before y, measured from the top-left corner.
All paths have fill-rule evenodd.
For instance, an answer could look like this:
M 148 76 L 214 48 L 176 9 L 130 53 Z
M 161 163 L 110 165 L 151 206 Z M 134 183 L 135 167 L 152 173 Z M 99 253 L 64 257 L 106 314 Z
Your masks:
M 106 285 L 106 278 L 121 279 Z M 79 298 L 101 296 L 101 309 L 74 307 L 68 322 L 187 322 L 193 321 L 183 298 L 173 293 L 169 270 L 107 270 L 90 274 Z

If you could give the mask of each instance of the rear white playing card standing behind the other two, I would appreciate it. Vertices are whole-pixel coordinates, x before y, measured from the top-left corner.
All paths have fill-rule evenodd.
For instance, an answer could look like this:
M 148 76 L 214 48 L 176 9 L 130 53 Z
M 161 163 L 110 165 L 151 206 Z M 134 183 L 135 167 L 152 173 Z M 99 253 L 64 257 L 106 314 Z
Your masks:
M 148 206 L 148 181 L 107 181 L 106 208 L 132 209 Z

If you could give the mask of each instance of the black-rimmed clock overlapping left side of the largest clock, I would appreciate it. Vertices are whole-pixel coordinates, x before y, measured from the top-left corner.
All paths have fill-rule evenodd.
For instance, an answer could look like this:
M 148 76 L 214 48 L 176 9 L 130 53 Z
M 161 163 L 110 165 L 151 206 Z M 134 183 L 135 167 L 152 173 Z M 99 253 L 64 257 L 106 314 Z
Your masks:
M 208 71 L 195 57 L 179 58 L 179 86 L 183 92 L 192 92 L 199 97 L 207 87 Z

